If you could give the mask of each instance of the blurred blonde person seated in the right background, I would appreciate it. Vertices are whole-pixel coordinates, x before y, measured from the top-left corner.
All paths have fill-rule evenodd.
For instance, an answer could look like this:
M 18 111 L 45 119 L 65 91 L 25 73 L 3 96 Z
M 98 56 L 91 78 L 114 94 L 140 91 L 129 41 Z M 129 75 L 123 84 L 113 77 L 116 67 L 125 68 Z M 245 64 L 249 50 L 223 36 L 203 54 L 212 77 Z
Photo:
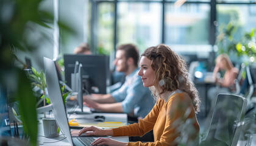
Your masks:
M 225 71 L 224 77 L 217 77 L 219 71 Z M 230 61 L 227 54 L 221 54 L 216 58 L 216 65 L 213 70 L 213 77 L 215 78 L 216 85 L 219 87 L 212 87 L 208 91 L 208 98 L 215 99 L 220 93 L 229 93 L 235 90 L 235 79 L 239 73 L 239 69 L 235 68 Z

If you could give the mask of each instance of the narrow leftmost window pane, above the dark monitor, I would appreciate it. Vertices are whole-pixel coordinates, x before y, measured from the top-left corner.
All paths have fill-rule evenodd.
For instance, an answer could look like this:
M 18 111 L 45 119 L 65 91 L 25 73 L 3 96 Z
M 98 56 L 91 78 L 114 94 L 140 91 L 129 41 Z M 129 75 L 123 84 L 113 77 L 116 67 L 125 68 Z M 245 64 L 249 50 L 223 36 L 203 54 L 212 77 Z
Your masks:
M 114 10 L 115 4 L 110 2 L 101 2 L 98 5 L 98 29 L 96 35 L 98 43 L 96 52 L 99 54 L 110 54 L 114 49 Z

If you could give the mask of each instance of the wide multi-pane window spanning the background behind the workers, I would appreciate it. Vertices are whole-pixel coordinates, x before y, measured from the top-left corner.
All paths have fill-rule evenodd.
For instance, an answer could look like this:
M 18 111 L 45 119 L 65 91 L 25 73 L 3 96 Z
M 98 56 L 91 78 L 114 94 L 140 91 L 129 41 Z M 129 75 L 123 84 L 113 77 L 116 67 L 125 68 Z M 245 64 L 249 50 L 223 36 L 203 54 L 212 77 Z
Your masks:
M 213 50 L 218 35 L 216 32 L 222 23 L 227 24 L 230 19 L 239 17 L 243 22 L 239 30 L 242 33 L 256 24 L 254 1 L 216 0 L 215 3 L 210 0 L 187 0 L 180 5 L 176 2 L 94 2 L 98 9 L 97 24 L 91 29 L 96 27 L 97 33 L 91 37 L 96 38 L 96 48 L 99 50 L 102 47 L 102 52 L 108 54 L 119 44 L 133 43 L 143 52 L 149 46 L 165 43 L 186 50 L 200 48 L 207 54 Z M 238 7 L 241 9 L 235 10 Z

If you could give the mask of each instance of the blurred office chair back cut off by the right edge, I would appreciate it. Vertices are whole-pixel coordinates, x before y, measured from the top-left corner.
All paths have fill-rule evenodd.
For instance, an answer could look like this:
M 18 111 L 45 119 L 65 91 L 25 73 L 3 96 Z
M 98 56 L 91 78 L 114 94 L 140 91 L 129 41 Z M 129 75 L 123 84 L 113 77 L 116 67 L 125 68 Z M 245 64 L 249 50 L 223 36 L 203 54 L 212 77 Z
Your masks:
M 256 64 L 248 65 L 246 68 L 248 82 L 249 82 L 249 92 L 246 96 L 248 102 L 252 102 L 252 96 L 256 88 Z

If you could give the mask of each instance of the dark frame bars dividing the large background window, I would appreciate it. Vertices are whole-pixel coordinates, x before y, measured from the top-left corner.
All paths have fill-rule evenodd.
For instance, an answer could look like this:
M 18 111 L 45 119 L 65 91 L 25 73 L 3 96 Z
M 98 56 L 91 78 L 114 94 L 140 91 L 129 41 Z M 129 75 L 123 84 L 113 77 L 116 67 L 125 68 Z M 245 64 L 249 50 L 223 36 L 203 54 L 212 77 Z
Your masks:
M 169 1 L 166 1 L 166 0 L 136 0 L 136 1 L 131 1 L 131 0 L 110 0 L 110 1 L 106 1 L 106 0 L 90 0 L 91 1 L 91 32 L 90 32 L 90 35 L 91 35 L 91 41 L 90 41 L 90 44 L 91 44 L 91 48 L 96 48 L 97 46 L 97 29 L 95 27 L 98 26 L 98 22 L 97 22 L 97 12 L 98 12 L 98 5 L 101 3 L 101 2 L 111 2 L 113 3 L 115 6 L 115 11 L 114 11 L 114 39 L 113 39 L 113 44 L 114 44 L 114 51 L 116 52 L 116 44 L 118 42 L 118 38 L 117 38 L 117 31 L 118 31 L 118 28 L 117 28 L 117 19 L 118 19 L 118 16 L 117 16 L 117 7 L 118 7 L 118 2 L 144 2 L 144 3 L 148 3 L 148 2 L 159 2 L 162 4 L 162 43 L 165 43 L 166 41 L 166 38 L 165 38 L 165 29 L 166 29 L 166 26 L 165 26 L 165 15 L 166 15 L 166 12 L 165 12 L 165 4 L 168 4 L 168 3 L 171 3 L 171 4 L 174 4 L 176 1 L 174 0 L 169 0 Z M 211 0 L 211 1 L 185 1 L 185 4 L 208 4 L 210 5 L 210 26 L 209 26 L 209 29 L 208 29 L 208 42 L 211 46 L 214 46 L 215 45 L 215 39 L 216 39 L 216 5 L 218 4 L 237 4 L 237 5 L 240 5 L 240 4 L 247 4 L 247 5 L 251 5 L 251 4 L 254 4 L 256 5 L 256 1 L 249 1 L 249 2 L 244 2 L 244 1 L 218 1 L 218 0 Z M 95 50 L 94 50 L 95 52 Z

